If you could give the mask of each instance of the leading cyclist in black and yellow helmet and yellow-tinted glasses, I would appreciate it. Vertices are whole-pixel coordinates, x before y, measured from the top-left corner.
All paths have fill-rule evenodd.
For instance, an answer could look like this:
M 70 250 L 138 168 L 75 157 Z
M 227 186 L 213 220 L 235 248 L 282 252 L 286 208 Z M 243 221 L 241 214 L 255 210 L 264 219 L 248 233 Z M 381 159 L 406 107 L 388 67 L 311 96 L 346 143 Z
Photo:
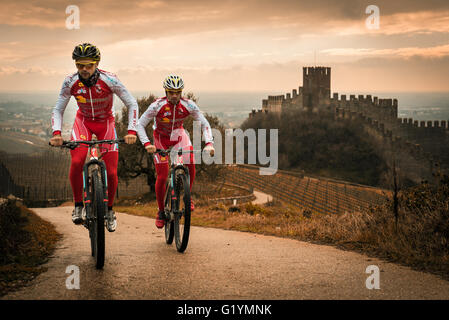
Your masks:
M 51 115 L 53 137 L 50 139 L 50 144 L 53 146 L 62 145 L 63 114 L 71 96 L 75 97 L 78 104 L 71 140 L 91 140 L 92 134 L 95 134 L 99 140 L 117 139 L 112 106 L 114 93 L 119 96 L 128 108 L 129 125 L 128 134 L 124 137 L 125 142 L 128 144 L 135 143 L 137 140 L 136 126 L 139 117 L 137 101 L 116 75 L 98 69 L 101 58 L 100 50 L 90 43 L 83 43 L 75 47 L 72 58 L 75 60 L 78 72 L 67 76 L 62 84 L 59 99 Z M 107 153 L 103 156 L 108 181 L 106 228 L 109 232 L 113 232 L 117 227 L 112 206 L 118 183 L 118 146 L 117 144 L 104 144 L 101 145 L 101 150 L 107 150 Z M 72 160 L 69 178 L 75 200 L 72 221 L 75 224 L 81 224 L 84 216 L 82 169 L 86 160 L 87 148 L 76 148 L 71 150 L 70 153 Z

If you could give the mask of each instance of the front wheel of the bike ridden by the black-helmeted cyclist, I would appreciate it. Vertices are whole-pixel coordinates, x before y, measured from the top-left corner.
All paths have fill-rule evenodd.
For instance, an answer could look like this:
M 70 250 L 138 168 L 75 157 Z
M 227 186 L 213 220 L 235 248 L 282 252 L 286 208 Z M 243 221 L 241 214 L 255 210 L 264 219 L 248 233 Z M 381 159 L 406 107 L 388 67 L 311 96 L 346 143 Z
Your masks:
M 94 238 L 95 267 L 97 269 L 102 269 L 105 257 L 104 216 L 106 213 L 106 206 L 104 203 L 104 189 L 98 170 L 93 170 L 91 177 L 91 190 L 93 195 L 91 198 L 93 213 L 91 228 Z

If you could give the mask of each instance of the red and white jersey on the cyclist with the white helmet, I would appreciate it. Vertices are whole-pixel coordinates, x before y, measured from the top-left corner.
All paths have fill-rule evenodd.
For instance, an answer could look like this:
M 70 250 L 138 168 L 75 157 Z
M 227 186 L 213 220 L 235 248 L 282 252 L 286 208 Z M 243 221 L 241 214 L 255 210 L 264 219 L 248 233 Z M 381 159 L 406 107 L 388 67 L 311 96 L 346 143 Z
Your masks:
M 213 143 L 212 130 L 209 121 L 204 117 L 196 103 L 190 99 L 181 98 L 174 107 L 168 102 L 167 97 L 154 101 L 142 114 L 137 124 L 137 134 L 142 144 L 150 142 L 145 127 L 154 119 L 153 130 L 159 135 L 170 137 L 176 129 L 183 128 L 184 119 L 191 115 L 194 120 L 201 122 L 204 140 Z

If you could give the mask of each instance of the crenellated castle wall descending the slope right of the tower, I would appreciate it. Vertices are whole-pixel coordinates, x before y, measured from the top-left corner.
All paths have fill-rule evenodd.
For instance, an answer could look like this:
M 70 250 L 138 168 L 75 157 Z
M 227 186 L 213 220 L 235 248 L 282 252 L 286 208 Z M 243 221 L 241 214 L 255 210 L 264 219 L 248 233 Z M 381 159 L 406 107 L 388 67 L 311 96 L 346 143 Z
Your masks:
M 358 99 L 358 98 L 357 98 Z M 376 99 L 377 100 L 377 99 Z M 396 158 L 397 167 L 415 183 L 423 179 L 432 181 L 432 172 L 438 163 L 443 172 L 449 169 L 449 129 L 446 121 L 413 121 L 413 119 L 394 118 L 397 114 L 397 102 L 391 99 L 377 100 L 366 104 L 353 103 L 342 96 L 341 100 L 333 98 L 335 118 L 359 121 L 365 132 L 376 141 L 375 147 L 384 160 L 392 164 Z M 351 107 L 355 107 L 352 108 Z M 372 112 L 376 108 L 385 107 L 383 114 Z M 371 108 L 371 110 L 370 110 Z M 370 116 L 371 115 L 371 116 Z

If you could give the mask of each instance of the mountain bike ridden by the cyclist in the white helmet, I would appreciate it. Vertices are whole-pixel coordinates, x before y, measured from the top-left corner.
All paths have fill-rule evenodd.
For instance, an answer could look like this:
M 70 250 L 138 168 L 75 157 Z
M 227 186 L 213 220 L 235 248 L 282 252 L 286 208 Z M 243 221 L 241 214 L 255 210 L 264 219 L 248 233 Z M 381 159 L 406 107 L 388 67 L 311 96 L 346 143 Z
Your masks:
M 156 149 L 162 157 L 170 156 L 169 179 L 165 186 L 164 215 L 165 242 L 172 244 L 175 239 L 176 250 L 184 252 L 190 234 L 190 175 L 184 166 L 182 155 L 194 153 L 194 150 Z

